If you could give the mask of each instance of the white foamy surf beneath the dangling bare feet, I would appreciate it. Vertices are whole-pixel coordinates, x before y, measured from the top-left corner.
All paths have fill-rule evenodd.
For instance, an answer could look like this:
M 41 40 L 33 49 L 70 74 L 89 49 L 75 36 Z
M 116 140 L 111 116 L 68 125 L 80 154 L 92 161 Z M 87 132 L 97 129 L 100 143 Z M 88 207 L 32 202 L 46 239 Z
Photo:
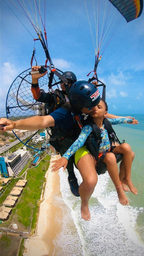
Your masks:
M 75 173 L 80 184 L 80 173 L 77 169 Z M 56 255 L 144 256 L 143 244 L 135 232 L 136 219 L 143 208 L 122 206 L 108 173 L 98 176 L 98 184 L 90 198 L 90 221 L 81 219 L 81 200 L 71 194 L 68 174 L 61 168 L 59 176 L 63 199 L 57 203 L 59 201 L 59 207 L 66 211 L 61 220 L 62 232 L 54 240 L 59 247 Z

